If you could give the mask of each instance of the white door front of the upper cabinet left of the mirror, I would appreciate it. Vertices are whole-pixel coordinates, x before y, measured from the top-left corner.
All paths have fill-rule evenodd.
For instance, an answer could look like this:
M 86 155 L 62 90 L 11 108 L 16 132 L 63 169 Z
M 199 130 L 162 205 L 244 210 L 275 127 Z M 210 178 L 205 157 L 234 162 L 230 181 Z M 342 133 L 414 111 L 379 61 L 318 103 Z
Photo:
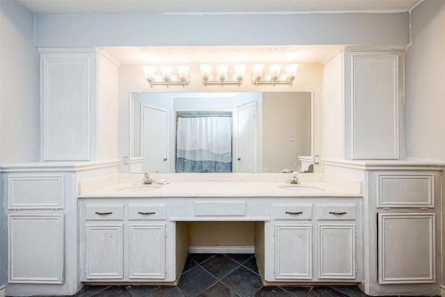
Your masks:
M 95 65 L 92 53 L 42 54 L 42 161 L 91 159 Z

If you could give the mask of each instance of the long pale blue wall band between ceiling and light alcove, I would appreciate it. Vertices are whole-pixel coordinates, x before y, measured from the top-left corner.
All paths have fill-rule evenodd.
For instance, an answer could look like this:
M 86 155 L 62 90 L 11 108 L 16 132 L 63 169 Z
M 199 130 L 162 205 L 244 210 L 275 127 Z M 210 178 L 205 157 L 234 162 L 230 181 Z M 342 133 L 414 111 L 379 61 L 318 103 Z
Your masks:
M 407 45 L 409 13 L 293 15 L 41 14 L 38 47 Z

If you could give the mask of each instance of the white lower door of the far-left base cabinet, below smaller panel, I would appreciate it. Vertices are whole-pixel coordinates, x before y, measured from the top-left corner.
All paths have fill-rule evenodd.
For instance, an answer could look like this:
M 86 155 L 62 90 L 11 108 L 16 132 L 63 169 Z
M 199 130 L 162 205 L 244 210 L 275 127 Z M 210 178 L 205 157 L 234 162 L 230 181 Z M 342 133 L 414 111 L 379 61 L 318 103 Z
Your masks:
M 8 282 L 63 283 L 63 214 L 8 215 Z

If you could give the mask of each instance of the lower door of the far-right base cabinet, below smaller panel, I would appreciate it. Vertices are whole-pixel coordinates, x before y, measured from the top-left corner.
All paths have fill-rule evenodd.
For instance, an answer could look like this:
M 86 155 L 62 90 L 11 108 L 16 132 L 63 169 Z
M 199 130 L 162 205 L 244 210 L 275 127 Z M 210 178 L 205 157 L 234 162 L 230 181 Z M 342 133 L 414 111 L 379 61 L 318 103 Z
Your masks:
M 378 282 L 435 282 L 435 214 L 378 214 Z

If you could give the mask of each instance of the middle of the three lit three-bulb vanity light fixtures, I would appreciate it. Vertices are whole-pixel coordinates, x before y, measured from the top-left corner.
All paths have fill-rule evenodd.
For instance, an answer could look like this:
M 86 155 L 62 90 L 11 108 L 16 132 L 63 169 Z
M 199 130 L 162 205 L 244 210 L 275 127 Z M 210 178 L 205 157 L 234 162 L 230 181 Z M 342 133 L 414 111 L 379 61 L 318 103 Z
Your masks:
M 244 81 L 244 73 L 247 66 L 244 64 L 235 64 L 234 72 L 228 72 L 229 65 L 227 64 L 218 64 L 215 66 L 215 69 L 216 73 L 212 72 L 213 65 L 200 65 L 201 79 L 205 86 L 214 84 L 221 84 L 221 86 L 225 84 L 237 84 L 241 86 L 241 83 Z

